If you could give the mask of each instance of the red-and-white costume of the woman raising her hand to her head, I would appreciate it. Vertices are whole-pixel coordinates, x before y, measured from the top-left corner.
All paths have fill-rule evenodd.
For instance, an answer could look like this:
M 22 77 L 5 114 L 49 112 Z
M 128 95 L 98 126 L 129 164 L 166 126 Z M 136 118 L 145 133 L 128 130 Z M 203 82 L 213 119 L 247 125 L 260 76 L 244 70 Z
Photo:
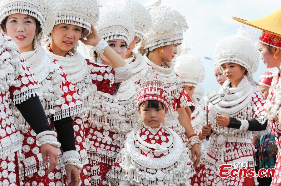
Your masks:
M 52 52 L 52 49 L 47 49 L 49 56 L 57 60 L 57 63 L 62 66 L 63 71 L 73 83 L 75 90 L 79 95 L 78 97 L 80 97 L 87 112 L 89 112 L 93 106 L 96 106 L 95 101 L 98 101 L 99 99 L 97 90 L 113 94 L 115 86 L 114 84 L 112 85 L 112 82 L 114 82 L 115 72 L 112 67 L 100 65 L 89 59 L 84 59 L 76 50 L 74 53 L 69 52 L 66 57 L 62 57 L 55 55 Z M 100 107 L 100 110 L 95 111 L 101 112 L 101 109 L 102 107 Z M 81 158 L 84 160 L 83 165 L 85 165 L 80 174 L 81 179 L 83 179 L 83 177 L 85 178 L 85 185 L 89 184 L 86 171 L 86 165 L 89 161 L 88 156 L 85 153 L 85 149 L 88 146 L 85 142 L 84 135 L 85 133 L 91 133 L 91 131 L 89 131 L 89 126 L 92 125 L 89 123 L 91 121 L 91 119 L 89 120 L 90 115 L 91 113 L 86 115 L 88 120 L 85 120 L 82 115 L 75 117 L 75 123 L 73 123 L 74 131 L 76 133 L 76 143 L 78 143 L 76 144 L 76 150 L 80 151 Z

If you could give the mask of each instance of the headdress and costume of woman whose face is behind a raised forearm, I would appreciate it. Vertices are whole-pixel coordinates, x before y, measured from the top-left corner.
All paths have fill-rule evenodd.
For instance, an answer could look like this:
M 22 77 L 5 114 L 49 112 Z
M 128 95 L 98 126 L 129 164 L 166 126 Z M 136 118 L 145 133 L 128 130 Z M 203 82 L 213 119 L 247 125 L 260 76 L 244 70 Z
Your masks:
M 135 35 L 134 25 L 128 15 L 114 7 L 101 8 L 96 30 L 105 41 L 123 40 L 126 48 Z M 93 47 L 88 49 L 87 52 L 95 58 Z M 100 57 L 97 61 L 103 63 Z M 131 70 L 127 64 L 124 67 Z M 98 90 L 96 104 L 89 113 L 89 125 L 85 127 L 90 158 L 87 170 L 92 185 L 106 185 L 106 173 L 113 165 L 125 135 L 136 125 L 135 83 L 131 79 L 125 80 L 114 81 L 117 85 L 114 92 Z M 119 84 L 120 88 L 117 89 Z

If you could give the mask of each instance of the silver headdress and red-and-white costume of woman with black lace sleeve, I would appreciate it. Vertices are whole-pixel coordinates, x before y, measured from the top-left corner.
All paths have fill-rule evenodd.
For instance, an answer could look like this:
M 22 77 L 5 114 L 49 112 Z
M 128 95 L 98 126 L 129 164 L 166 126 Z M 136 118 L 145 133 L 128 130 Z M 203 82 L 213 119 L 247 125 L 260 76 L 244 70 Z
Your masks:
M 219 177 L 219 166 L 232 164 L 235 168 L 254 168 L 254 146 L 252 144 L 253 132 L 248 130 L 248 120 L 258 120 L 264 124 L 264 97 L 257 89 L 252 74 L 256 72 L 259 64 L 259 53 L 254 47 L 251 33 L 241 27 L 236 35 L 231 35 L 219 41 L 214 54 L 214 62 L 223 72 L 224 63 L 236 63 L 245 67 L 247 72 L 237 87 L 231 87 L 225 81 L 219 91 L 222 101 L 210 106 L 210 123 L 213 130 L 208 154 L 206 156 L 206 177 L 210 185 L 255 185 L 252 177 Z M 229 73 L 226 70 L 226 73 Z M 239 129 L 217 125 L 216 116 L 227 115 L 241 122 Z M 229 123 L 230 124 L 230 123 Z

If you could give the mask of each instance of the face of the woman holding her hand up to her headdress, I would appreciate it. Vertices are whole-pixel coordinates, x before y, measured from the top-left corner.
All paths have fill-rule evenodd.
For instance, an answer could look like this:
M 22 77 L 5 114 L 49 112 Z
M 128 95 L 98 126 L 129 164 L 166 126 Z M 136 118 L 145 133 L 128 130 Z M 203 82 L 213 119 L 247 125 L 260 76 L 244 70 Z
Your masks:
M 68 52 L 73 49 L 78 43 L 82 34 L 82 27 L 68 24 L 55 25 L 51 35 L 51 48 L 55 51 Z

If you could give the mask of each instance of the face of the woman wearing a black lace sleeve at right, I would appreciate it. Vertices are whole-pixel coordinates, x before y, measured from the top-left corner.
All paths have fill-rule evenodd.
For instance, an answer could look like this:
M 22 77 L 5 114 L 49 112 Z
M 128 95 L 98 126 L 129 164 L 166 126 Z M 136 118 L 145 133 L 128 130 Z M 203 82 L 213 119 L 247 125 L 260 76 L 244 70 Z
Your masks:
M 229 82 L 239 83 L 246 72 L 246 68 L 236 63 L 223 63 L 223 74 Z

